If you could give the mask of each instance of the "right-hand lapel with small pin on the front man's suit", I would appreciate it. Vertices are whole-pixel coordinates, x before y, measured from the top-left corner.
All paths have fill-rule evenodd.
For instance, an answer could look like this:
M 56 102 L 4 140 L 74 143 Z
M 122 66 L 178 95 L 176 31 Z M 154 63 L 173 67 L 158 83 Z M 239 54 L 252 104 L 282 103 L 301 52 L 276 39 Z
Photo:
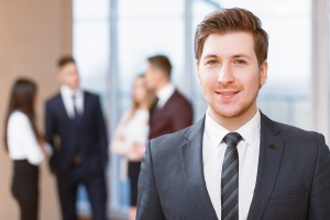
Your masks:
M 280 167 L 284 141 L 277 125 L 262 114 L 258 168 L 249 220 L 262 219 Z

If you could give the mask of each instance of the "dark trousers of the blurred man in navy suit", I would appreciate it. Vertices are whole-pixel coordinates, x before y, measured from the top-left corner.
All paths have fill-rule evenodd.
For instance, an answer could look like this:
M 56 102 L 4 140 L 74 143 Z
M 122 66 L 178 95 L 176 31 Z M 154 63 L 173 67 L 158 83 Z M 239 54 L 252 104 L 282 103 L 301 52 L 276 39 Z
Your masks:
M 57 187 L 63 220 L 77 220 L 78 186 L 86 187 L 91 206 L 94 220 L 107 219 L 107 189 L 106 176 L 101 174 L 85 174 L 79 166 L 74 166 L 67 174 L 57 175 Z

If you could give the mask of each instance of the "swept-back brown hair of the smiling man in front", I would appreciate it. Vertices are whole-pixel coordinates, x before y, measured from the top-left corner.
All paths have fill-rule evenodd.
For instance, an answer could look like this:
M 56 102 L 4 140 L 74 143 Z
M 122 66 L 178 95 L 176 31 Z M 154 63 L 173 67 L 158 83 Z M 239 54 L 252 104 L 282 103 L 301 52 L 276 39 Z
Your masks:
M 228 34 L 248 32 L 254 38 L 254 52 L 258 65 L 267 59 L 268 34 L 262 29 L 262 23 L 252 12 L 240 9 L 222 9 L 208 14 L 198 25 L 195 33 L 195 57 L 199 59 L 204 43 L 210 34 Z

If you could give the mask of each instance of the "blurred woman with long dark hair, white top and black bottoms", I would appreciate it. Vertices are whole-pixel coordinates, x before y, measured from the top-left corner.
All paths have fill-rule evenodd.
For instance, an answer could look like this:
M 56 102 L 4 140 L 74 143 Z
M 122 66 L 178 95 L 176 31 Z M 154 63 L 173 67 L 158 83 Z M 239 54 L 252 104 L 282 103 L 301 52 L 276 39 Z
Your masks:
M 12 195 L 21 220 L 38 219 L 38 166 L 50 148 L 36 128 L 36 84 L 18 79 L 11 90 L 4 145 L 13 162 Z

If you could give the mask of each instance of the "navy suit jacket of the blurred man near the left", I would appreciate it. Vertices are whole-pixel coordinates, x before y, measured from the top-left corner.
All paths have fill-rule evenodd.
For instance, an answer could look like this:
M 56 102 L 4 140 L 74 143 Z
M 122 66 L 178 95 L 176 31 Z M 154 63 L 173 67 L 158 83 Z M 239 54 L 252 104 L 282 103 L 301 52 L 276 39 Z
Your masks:
M 45 122 L 46 141 L 54 148 L 53 170 L 66 173 L 77 154 L 87 174 L 105 170 L 108 140 L 98 96 L 84 92 L 84 114 L 76 121 L 68 117 L 58 94 L 46 102 Z

